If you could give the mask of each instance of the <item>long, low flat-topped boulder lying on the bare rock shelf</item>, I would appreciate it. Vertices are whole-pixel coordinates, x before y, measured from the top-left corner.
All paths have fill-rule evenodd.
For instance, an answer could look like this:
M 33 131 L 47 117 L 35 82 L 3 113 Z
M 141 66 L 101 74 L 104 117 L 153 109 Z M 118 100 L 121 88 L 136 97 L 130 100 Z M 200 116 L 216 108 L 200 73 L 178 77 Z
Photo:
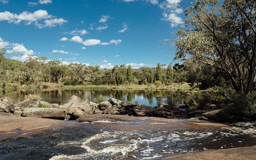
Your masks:
M 57 108 L 25 108 L 21 116 L 41 117 L 50 119 L 65 119 L 65 111 Z

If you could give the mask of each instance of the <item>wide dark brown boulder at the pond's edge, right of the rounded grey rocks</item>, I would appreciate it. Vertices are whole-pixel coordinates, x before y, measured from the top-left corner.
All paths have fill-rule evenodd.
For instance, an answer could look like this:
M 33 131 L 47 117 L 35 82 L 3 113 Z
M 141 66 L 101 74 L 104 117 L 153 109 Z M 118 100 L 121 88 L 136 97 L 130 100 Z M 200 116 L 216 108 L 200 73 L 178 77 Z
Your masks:
M 135 116 L 152 117 L 156 114 L 156 109 L 148 106 L 137 106 L 132 108 Z

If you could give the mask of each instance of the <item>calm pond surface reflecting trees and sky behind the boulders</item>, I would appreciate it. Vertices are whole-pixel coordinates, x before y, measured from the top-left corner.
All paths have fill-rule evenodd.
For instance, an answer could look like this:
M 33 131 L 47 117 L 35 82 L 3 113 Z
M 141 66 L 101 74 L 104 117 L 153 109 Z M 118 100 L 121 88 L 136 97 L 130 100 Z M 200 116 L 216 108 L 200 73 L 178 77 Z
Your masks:
M 147 106 L 155 107 L 164 103 L 165 97 L 174 96 L 176 103 L 183 103 L 186 96 L 173 95 L 174 91 L 162 91 L 162 90 L 32 90 L 32 91 L 11 91 L 3 93 L 6 96 L 13 97 L 15 99 L 23 99 L 25 95 L 36 94 L 40 95 L 42 101 L 49 103 L 62 104 L 66 102 L 72 95 L 79 96 L 81 99 L 88 99 L 92 101 L 94 98 L 104 96 L 107 99 L 116 98 L 120 100 L 128 100 L 131 102 L 138 102 Z

